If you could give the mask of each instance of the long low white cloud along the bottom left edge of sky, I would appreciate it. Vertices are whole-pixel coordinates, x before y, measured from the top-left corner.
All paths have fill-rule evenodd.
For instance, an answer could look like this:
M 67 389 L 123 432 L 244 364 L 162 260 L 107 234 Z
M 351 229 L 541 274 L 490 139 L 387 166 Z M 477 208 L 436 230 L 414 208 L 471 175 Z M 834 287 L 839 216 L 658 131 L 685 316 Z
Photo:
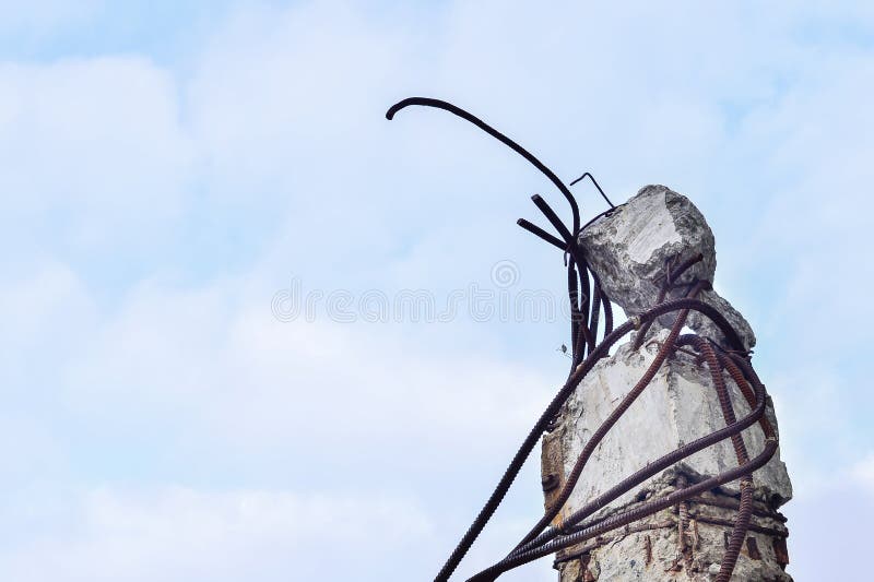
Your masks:
M 392 565 L 375 542 L 410 551 L 432 536 L 414 500 L 385 496 L 165 487 L 97 489 L 70 502 L 70 531 L 0 550 L 4 579 L 377 581 Z

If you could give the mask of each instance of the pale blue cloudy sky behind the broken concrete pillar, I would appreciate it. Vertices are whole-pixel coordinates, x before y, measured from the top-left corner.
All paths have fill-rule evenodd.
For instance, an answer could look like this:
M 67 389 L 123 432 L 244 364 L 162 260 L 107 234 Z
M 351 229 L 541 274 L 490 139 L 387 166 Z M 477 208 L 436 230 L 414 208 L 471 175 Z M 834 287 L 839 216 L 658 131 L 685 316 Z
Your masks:
M 436 573 L 566 375 L 562 258 L 515 224 L 566 209 L 447 114 L 388 122 L 412 95 L 701 209 L 789 571 L 858 579 L 872 92 L 869 2 L 0 2 L 0 579 Z M 540 515 L 534 456 L 459 579 Z

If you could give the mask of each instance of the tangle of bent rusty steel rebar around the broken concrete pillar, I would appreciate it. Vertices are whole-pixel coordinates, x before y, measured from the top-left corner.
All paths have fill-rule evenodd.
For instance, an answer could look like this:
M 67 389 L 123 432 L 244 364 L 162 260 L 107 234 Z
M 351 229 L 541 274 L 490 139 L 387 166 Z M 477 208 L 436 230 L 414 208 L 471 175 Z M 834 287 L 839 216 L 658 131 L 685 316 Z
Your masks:
M 696 254 L 687 258 L 685 261 L 682 261 L 678 264 L 675 264 L 675 261 L 670 261 L 666 263 L 663 283 L 661 285 L 657 305 L 643 311 L 642 313 L 629 318 L 628 321 L 622 323 L 616 329 L 613 329 L 613 311 L 610 297 L 607 297 L 607 295 L 604 293 L 604 289 L 601 286 L 595 273 L 589 269 L 589 264 L 579 244 L 579 239 L 581 231 L 587 226 L 599 219 L 601 216 L 610 215 L 613 212 L 621 212 L 622 205 L 615 206 L 606 197 L 594 177 L 588 171 L 584 173 L 578 179 L 570 182 L 569 186 L 577 183 L 583 178 L 590 178 L 603 199 L 610 205 L 610 209 L 597 214 L 593 218 L 586 223 L 586 225 L 580 227 L 579 206 L 574 198 L 574 194 L 569 190 L 569 186 L 565 186 L 554 171 L 546 167 L 542 162 L 540 162 L 540 159 L 528 152 L 524 147 L 464 109 L 440 99 L 433 99 L 428 97 L 411 97 L 403 99 L 390 107 L 386 112 L 386 118 L 392 119 L 401 109 L 414 105 L 434 107 L 449 111 L 473 123 L 481 130 L 509 146 L 511 150 L 531 163 L 534 167 L 536 167 L 556 186 L 556 188 L 568 201 L 572 215 L 570 226 L 565 226 L 550 204 L 542 197 L 535 194 L 532 197 L 532 201 L 559 236 L 556 237 L 540 226 L 525 221 L 524 218 L 520 218 L 517 223 L 523 229 L 558 248 L 564 253 L 565 264 L 567 266 L 568 300 L 570 301 L 571 311 L 571 369 L 564 385 L 555 394 L 553 400 L 550 402 L 550 404 L 541 414 L 540 418 L 532 427 L 529 435 L 522 441 L 522 444 L 517 450 L 516 454 L 507 466 L 507 470 L 504 472 L 504 475 L 498 480 L 498 484 L 496 485 L 492 495 L 488 497 L 486 503 L 438 572 L 437 577 L 435 578 L 435 582 L 446 582 L 456 570 L 461 559 L 468 553 L 473 542 L 480 535 L 483 527 L 486 525 L 497 507 L 500 504 L 501 500 L 509 490 L 509 487 L 521 470 L 522 464 L 531 454 L 531 451 L 533 450 L 541 435 L 544 431 L 555 428 L 555 421 L 558 418 L 560 407 L 567 401 L 569 395 L 577 389 L 583 377 L 591 371 L 598 360 L 606 357 L 611 347 L 619 338 L 633 330 L 637 330 L 638 332 L 633 343 L 633 347 L 638 349 L 650 325 L 652 325 L 656 319 L 672 312 L 678 312 L 678 314 L 674 321 L 674 324 L 672 325 L 668 340 L 660 347 L 656 358 L 648 367 L 638 383 L 625 396 L 625 399 L 623 399 L 622 403 L 613 411 L 613 413 L 611 413 L 609 418 L 602 423 L 601 427 L 599 427 L 593 437 L 587 442 L 582 453 L 580 453 L 579 458 L 577 459 L 568 479 L 562 486 L 558 496 L 547 507 L 544 515 L 538 521 L 534 527 L 532 527 L 529 533 L 525 534 L 522 541 L 506 558 L 474 575 L 470 579 L 470 581 L 485 582 L 495 580 L 503 572 L 506 572 L 507 570 L 517 566 L 521 566 L 542 556 L 586 542 L 592 537 L 598 537 L 602 533 L 623 526 L 627 528 L 635 521 L 651 515 L 668 507 L 675 506 L 680 502 L 685 502 L 686 500 L 705 502 L 700 497 L 702 494 L 725 483 L 741 479 L 741 500 L 736 508 L 737 515 L 733 523 L 731 541 L 729 543 L 729 548 L 723 555 L 722 563 L 720 566 L 720 573 L 718 577 L 719 582 L 727 582 L 736 562 L 746 531 L 751 528 L 763 532 L 769 531 L 768 528 L 763 528 L 755 524 L 751 524 L 752 514 L 756 511 L 752 500 L 751 475 L 753 471 L 767 463 L 767 461 L 776 451 L 777 435 L 773 430 L 773 427 L 765 416 L 767 392 L 752 365 L 747 359 L 745 359 L 745 357 L 748 357 L 748 352 L 745 349 L 736 331 L 717 309 L 694 298 L 694 296 L 697 295 L 701 289 L 709 288 L 709 283 L 702 281 L 697 282 L 695 285 L 690 284 L 687 288 L 687 297 L 665 300 L 671 289 L 676 287 L 676 284 L 684 272 L 695 263 L 699 262 L 702 259 L 701 256 Z M 591 283 L 590 276 L 592 280 Z M 604 311 L 604 332 L 602 340 L 599 342 L 598 328 L 600 324 L 602 309 Z M 689 311 L 693 310 L 710 319 L 717 325 L 717 328 L 720 329 L 728 343 L 732 347 L 729 349 L 723 349 L 716 344 L 710 345 L 707 340 L 694 335 L 680 336 L 680 331 L 685 322 L 685 319 L 687 318 Z M 627 411 L 635 399 L 637 399 L 637 396 L 646 389 L 666 357 L 674 352 L 685 352 L 685 345 L 695 346 L 697 348 L 697 356 L 699 356 L 704 361 L 707 361 L 711 377 L 713 378 L 714 388 L 718 393 L 723 419 L 725 420 L 725 427 L 714 430 L 705 437 L 683 444 L 676 450 L 662 455 L 654 462 L 647 464 L 647 466 L 638 470 L 629 477 L 623 479 L 619 484 L 603 492 L 597 499 L 587 502 L 586 506 L 565 519 L 560 527 L 550 527 L 550 523 L 555 519 L 569 499 L 589 456 L 594 450 L 594 447 L 597 447 L 598 443 L 610 432 L 611 428 L 615 425 L 618 418 L 623 416 L 625 411 Z M 742 357 L 741 354 L 743 354 L 745 357 Z M 751 408 L 749 414 L 740 420 L 735 418 L 731 397 L 725 387 L 725 382 L 722 379 L 723 369 L 729 373 L 732 381 L 739 387 L 744 400 L 746 400 Z M 759 424 L 765 433 L 765 448 L 756 458 L 751 460 L 743 442 L 742 431 L 756 423 Z M 670 467 L 672 464 L 689 456 L 690 454 L 701 451 L 707 447 L 711 447 L 712 444 L 724 439 L 731 439 L 732 441 L 735 456 L 737 456 L 736 467 L 705 478 L 699 483 L 682 486 L 664 497 L 645 502 L 633 509 L 628 509 L 603 519 L 590 520 L 588 522 L 584 521 L 599 509 L 605 507 L 611 501 L 640 485 L 647 478 L 656 475 L 664 468 Z M 684 515 L 681 515 L 681 522 L 687 519 L 685 513 L 686 512 L 684 512 Z M 707 518 L 701 516 L 699 519 L 705 521 Z

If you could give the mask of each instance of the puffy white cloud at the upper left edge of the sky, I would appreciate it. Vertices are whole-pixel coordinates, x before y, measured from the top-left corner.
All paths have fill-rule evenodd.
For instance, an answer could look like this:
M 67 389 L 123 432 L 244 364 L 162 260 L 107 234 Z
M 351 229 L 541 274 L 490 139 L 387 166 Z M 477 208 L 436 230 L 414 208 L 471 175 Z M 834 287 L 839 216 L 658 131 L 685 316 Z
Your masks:
M 87 249 L 165 236 L 193 159 L 172 76 L 140 57 L 0 64 L 0 153 L 7 230 Z

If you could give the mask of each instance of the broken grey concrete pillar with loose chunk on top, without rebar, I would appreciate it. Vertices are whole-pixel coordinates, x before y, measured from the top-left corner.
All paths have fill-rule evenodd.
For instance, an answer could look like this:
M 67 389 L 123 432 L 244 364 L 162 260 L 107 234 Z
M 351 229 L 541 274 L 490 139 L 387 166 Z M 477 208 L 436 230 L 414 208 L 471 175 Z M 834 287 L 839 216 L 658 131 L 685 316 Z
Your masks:
M 580 236 L 593 272 L 610 298 L 631 316 L 656 305 L 666 262 L 700 252 L 704 260 L 681 281 L 712 281 L 716 271 L 713 235 L 700 212 L 676 192 L 650 186 L 590 225 Z M 680 296 L 683 289 L 668 293 Z M 746 347 L 755 336 L 746 320 L 714 292 L 700 296 L 735 326 Z M 562 408 L 557 428 L 543 440 L 542 472 L 548 491 L 545 501 L 564 485 L 583 446 L 616 404 L 634 388 L 668 336 L 664 317 L 648 332 L 641 347 L 633 341 L 600 360 Z M 704 317 L 689 317 L 698 334 L 724 343 Z M 737 416 L 749 407 L 725 375 Z M 777 426 L 767 402 L 766 415 Z M 606 491 L 637 470 L 725 426 L 710 371 L 695 356 L 676 352 L 650 385 L 621 417 L 595 449 L 574 494 L 554 525 L 587 501 Z M 758 425 L 743 431 L 751 456 L 765 447 Z M 637 489 L 613 501 L 591 519 L 611 515 L 662 497 L 685 484 L 697 483 L 737 466 L 731 442 L 724 440 L 657 474 Z M 753 474 L 754 513 L 732 580 L 789 581 L 786 519 L 778 508 L 792 497 L 786 465 L 777 454 Z M 729 483 L 673 508 L 650 515 L 557 555 L 562 582 L 627 580 L 712 581 L 731 534 L 739 506 L 739 483 Z

